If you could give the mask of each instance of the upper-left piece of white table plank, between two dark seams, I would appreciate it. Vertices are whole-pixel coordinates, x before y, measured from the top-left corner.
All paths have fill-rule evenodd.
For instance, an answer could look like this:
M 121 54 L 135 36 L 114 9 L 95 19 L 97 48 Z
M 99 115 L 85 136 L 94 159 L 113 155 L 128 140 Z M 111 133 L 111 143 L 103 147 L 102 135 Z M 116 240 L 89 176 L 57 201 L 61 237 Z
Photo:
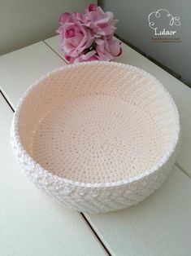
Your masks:
M 0 56 L 0 87 L 15 108 L 24 91 L 42 75 L 65 63 L 43 42 Z

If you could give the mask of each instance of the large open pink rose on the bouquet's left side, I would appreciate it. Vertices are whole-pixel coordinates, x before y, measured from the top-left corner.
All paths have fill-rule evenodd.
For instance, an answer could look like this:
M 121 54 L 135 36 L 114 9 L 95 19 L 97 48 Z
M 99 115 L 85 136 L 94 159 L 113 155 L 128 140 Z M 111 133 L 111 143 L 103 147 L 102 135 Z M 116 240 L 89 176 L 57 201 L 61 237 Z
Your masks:
M 61 48 L 67 55 L 76 58 L 93 44 L 93 33 L 76 20 L 76 14 L 64 13 L 60 16 Z

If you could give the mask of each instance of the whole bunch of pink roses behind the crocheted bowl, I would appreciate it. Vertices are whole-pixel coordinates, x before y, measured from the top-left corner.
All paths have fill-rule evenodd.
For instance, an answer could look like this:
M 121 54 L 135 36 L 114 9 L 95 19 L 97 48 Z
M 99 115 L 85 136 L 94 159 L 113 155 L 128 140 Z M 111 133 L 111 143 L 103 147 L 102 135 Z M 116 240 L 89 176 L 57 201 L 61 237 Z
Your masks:
M 64 12 L 59 18 L 57 33 L 61 49 L 69 63 L 90 60 L 112 60 L 122 52 L 119 40 L 114 38 L 115 24 L 111 11 L 102 11 L 92 3 L 84 13 Z

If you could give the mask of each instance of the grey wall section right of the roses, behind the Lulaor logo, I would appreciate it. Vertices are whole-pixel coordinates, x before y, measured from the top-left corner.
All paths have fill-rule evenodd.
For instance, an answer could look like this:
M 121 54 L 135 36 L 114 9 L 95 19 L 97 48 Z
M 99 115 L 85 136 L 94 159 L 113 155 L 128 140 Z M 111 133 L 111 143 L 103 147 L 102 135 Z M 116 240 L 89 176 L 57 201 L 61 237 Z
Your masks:
M 191 85 L 191 1 L 190 0 L 99 0 L 105 11 L 119 20 L 116 33 L 145 54 L 180 74 Z M 150 12 L 167 9 L 180 16 L 178 36 L 181 42 L 150 42 L 153 30 L 148 26 Z

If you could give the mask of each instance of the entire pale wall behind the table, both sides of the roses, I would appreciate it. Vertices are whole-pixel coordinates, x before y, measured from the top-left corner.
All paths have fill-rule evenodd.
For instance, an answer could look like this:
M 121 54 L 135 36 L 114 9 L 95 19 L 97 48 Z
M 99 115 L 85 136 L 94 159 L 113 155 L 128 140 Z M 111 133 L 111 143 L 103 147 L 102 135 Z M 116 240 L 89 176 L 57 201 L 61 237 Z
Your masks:
M 54 36 L 59 15 L 83 11 L 93 0 L 0 0 L 0 55 Z M 155 60 L 180 74 L 191 85 L 191 1 L 190 0 L 99 0 L 105 11 L 119 19 L 116 31 Z M 153 31 L 147 17 L 165 8 L 180 16 L 180 43 L 150 42 Z

